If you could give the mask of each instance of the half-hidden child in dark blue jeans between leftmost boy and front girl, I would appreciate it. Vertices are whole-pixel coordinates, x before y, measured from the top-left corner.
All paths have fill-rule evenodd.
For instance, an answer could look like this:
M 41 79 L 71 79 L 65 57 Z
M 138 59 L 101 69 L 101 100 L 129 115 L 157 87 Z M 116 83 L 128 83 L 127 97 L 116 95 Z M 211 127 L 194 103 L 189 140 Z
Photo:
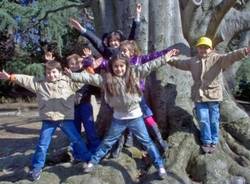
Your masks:
M 66 58 L 68 67 L 73 72 L 81 72 L 83 68 L 82 58 L 77 54 L 72 54 Z M 82 123 L 87 135 L 88 148 L 94 153 L 100 144 L 100 140 L 97 136 L 93 107 L 90 103 L 91 95 L 98 93 L 99 89 L 95 86 L 84 85 L 80 90 L 76 92 L 75 100 L 75 126 L 79 134 L 81 134 Z M 78 159 L 78 153 L 73 145 L 73 154 Z

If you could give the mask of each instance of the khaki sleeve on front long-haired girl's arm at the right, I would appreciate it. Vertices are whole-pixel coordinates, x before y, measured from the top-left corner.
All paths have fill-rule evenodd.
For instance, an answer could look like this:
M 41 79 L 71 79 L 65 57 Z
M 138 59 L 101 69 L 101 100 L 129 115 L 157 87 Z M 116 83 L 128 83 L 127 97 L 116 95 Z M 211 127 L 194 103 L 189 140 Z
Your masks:
M 154 60 L 143 65 L 137 65 L 134 67 L 135 74 L 136 76 L 139 76 L 139 78 L 146 78 L 152 71 L 157 70 L 159 67 L 166 64 L 171 59 L 161 58 L 160 60 Z

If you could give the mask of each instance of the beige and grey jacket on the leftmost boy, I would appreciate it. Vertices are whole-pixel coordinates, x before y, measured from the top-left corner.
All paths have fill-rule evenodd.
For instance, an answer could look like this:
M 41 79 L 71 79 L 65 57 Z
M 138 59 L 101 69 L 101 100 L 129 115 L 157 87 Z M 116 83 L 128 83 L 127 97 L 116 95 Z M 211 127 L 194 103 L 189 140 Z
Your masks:
M 42 120 L 74 119 L 75 91 L 82 87 L 82 83 L 72 82 L 67 76 L 48 82 L 27 75 L 15 75 L 15 83 L 36 93 Z

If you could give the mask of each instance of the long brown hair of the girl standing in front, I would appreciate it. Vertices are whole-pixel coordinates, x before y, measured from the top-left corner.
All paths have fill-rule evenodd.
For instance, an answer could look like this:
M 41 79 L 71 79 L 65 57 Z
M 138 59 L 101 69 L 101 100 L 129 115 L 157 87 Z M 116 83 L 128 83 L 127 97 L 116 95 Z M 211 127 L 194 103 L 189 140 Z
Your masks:
M 107 91 L 111 96 L 120 95 L 121 93 L 124 93 L 121 91 L 121 86 L 119 85 L 119 81 L 117 76 L 114 74 L 113 71 L 113 64 L 117 61 L 124 61 L 124 64 L 126 65 L 126 72 L 122 78 L 125 80 L 126 85 L 126 93 L 138 93 L 142 94 L 139 86 L 139 80 L 136 80 L 135 76 L 133 75 L 132 69 L 129 64 L 129 58 L 122 56 L 121 53 L 118 53 L 114 55 L 109 63 L 108 63 L 108 71 L 105 74 L 105 84 L 104 89 Z

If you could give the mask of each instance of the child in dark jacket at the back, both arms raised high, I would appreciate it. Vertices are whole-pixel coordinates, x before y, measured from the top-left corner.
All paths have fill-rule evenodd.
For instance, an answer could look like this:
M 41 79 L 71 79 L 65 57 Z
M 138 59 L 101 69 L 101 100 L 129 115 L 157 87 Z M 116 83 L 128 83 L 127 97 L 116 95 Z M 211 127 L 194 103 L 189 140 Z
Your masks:
M 136 6 L 136 19 L 133 21 L 132 28 L 128 40 L 135 39 L 136 29 L 140 23 L 141 4 Z M 115 54 L 120 46 L 120 42 L 125 40 L 125 37 L 121 31 L 113 31 L 103 35 L 103 39 L 98 38 L 93 32 L 82 27 L 81 24 L 70 19 L 70 25 L 78 30 L 84 37 L 86 37 L 93 46 L 100 52 L 104 59 L 109 59 Z

